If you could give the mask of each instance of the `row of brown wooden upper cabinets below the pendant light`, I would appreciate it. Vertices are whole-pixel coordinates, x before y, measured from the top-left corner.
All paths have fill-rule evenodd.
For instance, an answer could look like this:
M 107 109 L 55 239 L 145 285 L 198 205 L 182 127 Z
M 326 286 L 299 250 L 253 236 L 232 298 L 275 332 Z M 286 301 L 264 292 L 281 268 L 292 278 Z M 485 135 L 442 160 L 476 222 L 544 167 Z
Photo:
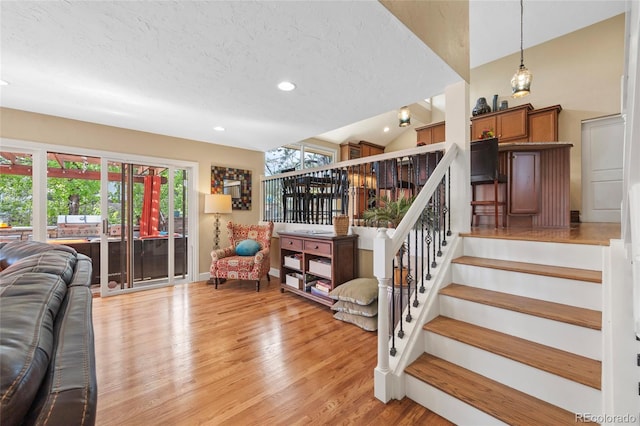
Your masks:
M 558 140 L 560 105 L 534 110 L 524 104 L 471 117 L 471 139 L 492 130 L 498 142 L 555 142 Z

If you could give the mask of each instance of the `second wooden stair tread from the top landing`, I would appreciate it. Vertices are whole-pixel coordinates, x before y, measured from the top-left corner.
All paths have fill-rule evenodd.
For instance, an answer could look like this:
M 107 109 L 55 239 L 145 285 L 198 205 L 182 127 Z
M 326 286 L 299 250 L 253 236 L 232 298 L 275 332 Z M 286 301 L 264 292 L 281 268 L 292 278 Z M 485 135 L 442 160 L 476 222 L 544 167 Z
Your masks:
M 602 328 L 602 313 L 593 309 L 578 308 L 461 284 L 449 284 L 440 290 L 440 294 L 593 330 Z

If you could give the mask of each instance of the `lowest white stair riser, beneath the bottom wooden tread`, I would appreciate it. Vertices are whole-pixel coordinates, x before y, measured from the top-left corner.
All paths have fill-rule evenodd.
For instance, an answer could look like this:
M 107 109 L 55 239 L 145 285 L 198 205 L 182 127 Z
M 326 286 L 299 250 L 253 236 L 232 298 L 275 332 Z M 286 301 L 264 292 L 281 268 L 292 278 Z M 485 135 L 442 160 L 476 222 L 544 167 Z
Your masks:
M 408 374 L 405 385 L 407 397 L 457 425 L 506 425 L 484 411 L 480 411 Z

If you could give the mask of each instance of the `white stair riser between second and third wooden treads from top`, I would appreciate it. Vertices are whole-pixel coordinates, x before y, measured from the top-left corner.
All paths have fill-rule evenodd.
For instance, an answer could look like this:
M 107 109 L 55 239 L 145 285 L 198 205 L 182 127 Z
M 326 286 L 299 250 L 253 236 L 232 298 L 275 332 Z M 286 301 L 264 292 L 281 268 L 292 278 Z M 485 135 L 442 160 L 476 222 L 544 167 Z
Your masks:
M 445 295 L 439 296 L 439 302 L 441 315 L 602 360 L 602 336 L 599 330 Z

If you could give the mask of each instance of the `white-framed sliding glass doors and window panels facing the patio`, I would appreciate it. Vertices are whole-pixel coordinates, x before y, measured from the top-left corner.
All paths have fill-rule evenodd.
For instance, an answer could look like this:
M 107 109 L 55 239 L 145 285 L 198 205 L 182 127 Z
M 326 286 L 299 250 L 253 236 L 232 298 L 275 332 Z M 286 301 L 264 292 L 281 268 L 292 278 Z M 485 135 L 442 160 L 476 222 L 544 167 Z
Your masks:
M 196 163 L 1 142 L 0 242 L 73 247 L 102 295 L 193 280 Z

